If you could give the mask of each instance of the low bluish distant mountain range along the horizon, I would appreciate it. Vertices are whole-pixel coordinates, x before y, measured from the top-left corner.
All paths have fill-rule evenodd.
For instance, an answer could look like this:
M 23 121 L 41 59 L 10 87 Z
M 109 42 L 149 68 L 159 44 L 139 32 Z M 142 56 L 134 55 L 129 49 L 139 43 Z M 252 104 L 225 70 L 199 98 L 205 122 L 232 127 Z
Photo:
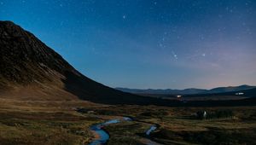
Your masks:
M 159 95 L 195 95 L 195 94 L 215 94 L 215 93 L 225 93 L 225 92 L 234 92 L 240 90 L 250 90 L 256 88 L 256 86 L 250 85 L 240 85 L 240 86 L 229 86 L 229 87 L 218 87 L 213 88 L 211 90 L 203 90 L 203 89 L 185 89 L 185 90 L 139 90 L 139 89 L 128 89 L 128 88 L 116 88 L 116 90 L 121 90 L 124 92 L 129 92 L 133 94 L 159 94 Z

